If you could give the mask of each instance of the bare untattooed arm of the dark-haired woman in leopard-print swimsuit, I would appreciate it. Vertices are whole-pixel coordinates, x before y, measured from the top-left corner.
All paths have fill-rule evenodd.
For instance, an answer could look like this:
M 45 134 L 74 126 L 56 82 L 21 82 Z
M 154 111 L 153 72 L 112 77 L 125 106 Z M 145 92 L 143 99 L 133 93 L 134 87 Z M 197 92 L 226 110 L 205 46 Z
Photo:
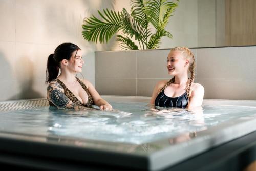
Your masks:
M 94 88 L 93 84 L 88 80 L 82 80 L 84 84 L 86 84 L 87 89 L 89 90 L 90 94 L 92 95 L 94 103 L 100 107 L 101 110 L 112 110 L 112 106 L 102 99 L 97 92 L 97 90 Z

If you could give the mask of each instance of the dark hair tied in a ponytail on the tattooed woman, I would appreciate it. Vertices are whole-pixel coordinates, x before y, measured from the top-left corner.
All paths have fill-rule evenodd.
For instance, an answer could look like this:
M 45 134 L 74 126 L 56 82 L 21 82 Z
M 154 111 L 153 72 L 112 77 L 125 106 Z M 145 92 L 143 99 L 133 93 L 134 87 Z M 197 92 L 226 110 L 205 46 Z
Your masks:
M 63 59 L 69 60 L 74 51 L 80 48 L 72 43 L 60 44 L 54 51 L 54 54 L 50 54 L 47 60 L 46 69 L 46 83 L 51 82 L 53 79 L 57 78 L 59 74 L 60 62 Z

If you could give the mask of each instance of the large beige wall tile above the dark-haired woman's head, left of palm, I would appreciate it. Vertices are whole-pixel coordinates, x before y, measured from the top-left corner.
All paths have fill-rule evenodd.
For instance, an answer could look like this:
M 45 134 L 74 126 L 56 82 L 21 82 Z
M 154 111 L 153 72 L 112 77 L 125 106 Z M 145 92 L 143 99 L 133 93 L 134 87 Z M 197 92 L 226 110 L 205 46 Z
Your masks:
M 16 39 L 37 44 L 81 41 L 86 8 L 82 1 L 17 1 Z

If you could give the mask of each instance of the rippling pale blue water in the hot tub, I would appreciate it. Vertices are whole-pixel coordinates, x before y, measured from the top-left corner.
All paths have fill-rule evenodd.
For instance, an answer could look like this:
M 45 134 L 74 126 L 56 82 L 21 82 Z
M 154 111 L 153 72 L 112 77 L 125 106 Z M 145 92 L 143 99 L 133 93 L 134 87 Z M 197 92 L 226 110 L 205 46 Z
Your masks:
M 256 108 L 212 106 L 150 109 L 147 103 L 111 103 L 114 111 L 56 110 L 41 107 L 0 113 L 0 131 L 56 135 L 79 139 L 143 144 L 202 130 L 240 117 L 256 115 Z M 182 140 L 181 140 L 182 141 Z

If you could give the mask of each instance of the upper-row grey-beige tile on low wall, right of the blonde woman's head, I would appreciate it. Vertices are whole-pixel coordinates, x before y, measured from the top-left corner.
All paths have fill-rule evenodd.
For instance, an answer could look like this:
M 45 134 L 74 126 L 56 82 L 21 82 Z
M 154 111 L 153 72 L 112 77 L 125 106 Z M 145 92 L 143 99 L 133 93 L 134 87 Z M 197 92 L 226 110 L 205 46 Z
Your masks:
M 256 47 L 197 50 L 197 78 L 256 78 Z

